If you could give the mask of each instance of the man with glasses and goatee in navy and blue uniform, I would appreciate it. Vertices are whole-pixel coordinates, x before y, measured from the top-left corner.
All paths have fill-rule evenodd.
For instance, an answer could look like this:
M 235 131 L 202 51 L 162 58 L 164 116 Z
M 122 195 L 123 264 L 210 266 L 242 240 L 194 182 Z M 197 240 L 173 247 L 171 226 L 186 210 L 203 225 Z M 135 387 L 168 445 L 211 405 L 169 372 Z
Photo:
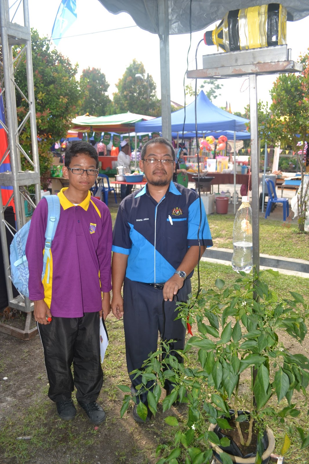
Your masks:
M 174 320 L 176 301 L 187 301 L 199 254 L 212 246 L 199 196 L 172 181 L 172 144 L 162 137 L 149 140 L 139 163 L 147 184 L 122 200 L 112 247 L 111 308 L 118 319 L 123 316 L 129 374 L 157 350 L 158 330 L 163 340 L 175 341 L 172 349 L 184 348 L 185 328 Z M 141 379 L 130 378 L 133 390 Z M 165 388 L 169 394 L 173 385 L 167 382 Z M 147 406 L 147 394 L 137 401 Z M 148 410 L 147 420 L 150 416 Z M 142 422 L 136 405 L 133 417 Z

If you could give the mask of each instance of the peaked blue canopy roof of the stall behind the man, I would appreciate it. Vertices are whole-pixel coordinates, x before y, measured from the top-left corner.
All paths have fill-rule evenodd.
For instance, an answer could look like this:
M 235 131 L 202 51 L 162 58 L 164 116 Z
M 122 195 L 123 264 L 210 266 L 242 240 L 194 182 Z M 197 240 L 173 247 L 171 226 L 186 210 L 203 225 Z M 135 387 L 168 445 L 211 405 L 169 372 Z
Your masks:
M 185 131 L 195 131 L 195 102 L 186 107 Z M 227 111 L 221 110 L 206 97 L 203 90 L 196 98 L 197 130 L 198 131 L 222 131 L 222 130 L 245 130 L 248 119 L 235 116 Z M 185 110 L 174 111 L 171 114 L 172 132 L 182 132 Z M 157 117 L 150 121 L 135 122 L 136 132 L 161 132 L 162 118 Z

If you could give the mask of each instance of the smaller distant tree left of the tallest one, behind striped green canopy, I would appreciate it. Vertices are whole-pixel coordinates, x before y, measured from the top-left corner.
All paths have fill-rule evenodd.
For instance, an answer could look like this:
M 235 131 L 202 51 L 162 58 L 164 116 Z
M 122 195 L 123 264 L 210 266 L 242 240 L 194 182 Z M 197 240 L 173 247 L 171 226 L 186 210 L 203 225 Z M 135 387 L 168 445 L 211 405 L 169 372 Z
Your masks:
M 81 90 L 81 108 L 79 114 L 89 113 L 91 116 L 104 116 L 108 114 L 111 103 L 106 94 L 109 83 L 100 69 L 88 67 L 84 69 L 79 86 Z

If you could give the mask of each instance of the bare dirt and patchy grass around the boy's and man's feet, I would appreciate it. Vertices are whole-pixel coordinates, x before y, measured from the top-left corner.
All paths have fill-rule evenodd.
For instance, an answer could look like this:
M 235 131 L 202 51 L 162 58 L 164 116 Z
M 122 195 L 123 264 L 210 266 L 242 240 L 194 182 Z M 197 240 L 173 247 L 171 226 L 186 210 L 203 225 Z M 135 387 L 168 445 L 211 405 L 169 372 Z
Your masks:
M 180 410 L 174 408 L 164 414 L 159 410 L 150 423 L 136 424 L 129 407 L 120 418 L 123 393 L 116 385 L 129 385 L 123 325 L 122 322 L 114 324 L 115 319 L 109 318 L 110 341 L 103 364 L 104 384 L 98 398 L 107 419 L 99 426 L 91 424 L 77 404 L 73 421 L 65 422 L 58 417 L 54 403 L 47 397 L 48 382 L 39 335 L 22 341 L 0 332 L 0 464 L 153 464 L 157 461 L 155 449 L 164 442 L 163 429 L 170 429 L 163 417 L 179 415 Z M 116 330 L 114 337 L 113 330 Z

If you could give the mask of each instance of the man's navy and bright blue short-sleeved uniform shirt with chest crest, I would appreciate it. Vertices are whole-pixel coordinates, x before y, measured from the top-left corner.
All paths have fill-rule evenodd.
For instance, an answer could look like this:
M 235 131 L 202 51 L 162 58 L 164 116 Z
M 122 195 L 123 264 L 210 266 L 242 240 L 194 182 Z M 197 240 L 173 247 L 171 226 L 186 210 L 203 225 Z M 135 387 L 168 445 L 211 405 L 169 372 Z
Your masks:
M 212 246 L 203 202 L 200 245 Z M 157 203 L 147 184 L 120 203 L 112 251 L 129 255 L 126 277 L 145 283 L 163 283 L 173 276 L 188 247 L 199 245 L 200 199 L 196 192 L 170 183 Z M 188 277 L 193 275 L 193 271 Z

